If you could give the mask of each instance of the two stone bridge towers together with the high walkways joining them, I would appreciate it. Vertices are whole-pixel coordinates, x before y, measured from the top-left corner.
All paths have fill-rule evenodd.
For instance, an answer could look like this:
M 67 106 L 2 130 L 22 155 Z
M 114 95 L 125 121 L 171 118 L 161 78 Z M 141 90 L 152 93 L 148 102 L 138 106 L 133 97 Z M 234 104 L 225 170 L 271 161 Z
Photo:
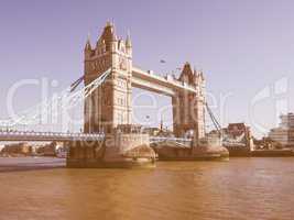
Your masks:
M 186 63 L 179 78 L 161 77 L 135 67 L 132 63 L 130 35 L 119 38 L 115 26 L 107 23 L 96 46 L 85 46 L 85 85 L 111 68 L 107 81 L 85 101 L 86 133 L 109 133 L 119 124 L 131 124 L 132 87 L 172 97 L 173 131 L 179 138 L 193 130 L 205 136 L 205 79 L 202 72 Z

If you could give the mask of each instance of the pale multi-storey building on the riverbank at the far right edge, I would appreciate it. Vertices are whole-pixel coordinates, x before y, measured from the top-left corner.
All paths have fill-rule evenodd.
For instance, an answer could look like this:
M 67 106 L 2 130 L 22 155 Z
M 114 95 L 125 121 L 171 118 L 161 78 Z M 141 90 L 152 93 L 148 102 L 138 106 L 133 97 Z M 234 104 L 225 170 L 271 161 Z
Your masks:
M 269 138 L 283 146 L 294 147 L 294 113 L 282 114 L 281 123 L 272 129 Z

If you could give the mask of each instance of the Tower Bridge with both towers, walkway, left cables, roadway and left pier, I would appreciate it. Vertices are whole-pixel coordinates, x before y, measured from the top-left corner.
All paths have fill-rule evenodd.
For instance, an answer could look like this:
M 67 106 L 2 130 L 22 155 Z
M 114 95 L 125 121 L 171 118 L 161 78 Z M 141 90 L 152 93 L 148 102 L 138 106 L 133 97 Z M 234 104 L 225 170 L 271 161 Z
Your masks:
M 70 167 L 99 167 L 107 164 L 141 164 L 154 162 L 155 153 L 150 143 L 174 141 L 184 143 L 184 154 L 190 158 L 197 141 L 205 138 L 206 89 L 202 72 L 192 69 L 186 63 L 178 78 L 161 77 L 151 70 L 143 70 L 132 63 L 130 35 L 119 38 L 115 26 L 107 23 L 96 45 L 87 40 L 84 50 L 84 76 L 74 84 L 74 89 L 41 103 L 33 112 L 17 120 L 7 120 L 6 127 L 42 121 L 42 112 L 52 110 L 59 100 L 65 100 L 61 111 L 84 102 L 84 132 L 19 132 L 0 130 L 0 141 L 62 141 L 69 148 L 67 165 Z M 84 79 L 85 87 L 75 91 Z M 172 97 L 174 138 L 149 136 L 132 124 L 132 88 Z M 54 108 L 53 108 L 54 107 Z M 35 112 L 35 109 L 41 110 Z M 58 108 L 57 108 L 58 109 Z M 61 113 L 61 112 L 57 112 Z M 183 139 L 193 132 L 193 140 Z M 92 143 L 89 145 L 89 142 Z M 102 144 L 97 145 L 97 142 Z M 187 145 L 192 148 L 187 147 Z M 183 152 L 182 152 L 183 153 Z

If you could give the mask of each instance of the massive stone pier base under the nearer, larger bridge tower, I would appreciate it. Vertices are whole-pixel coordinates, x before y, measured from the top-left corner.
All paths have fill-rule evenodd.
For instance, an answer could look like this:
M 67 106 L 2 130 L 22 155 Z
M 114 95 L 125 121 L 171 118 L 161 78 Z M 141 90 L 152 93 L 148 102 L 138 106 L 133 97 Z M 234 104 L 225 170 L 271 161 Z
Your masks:
M 154 167 L 155 153 L 149 145 L 149 134 L 116 131 L 102 141 L 66 144 L 69 150 L 67 167 Z

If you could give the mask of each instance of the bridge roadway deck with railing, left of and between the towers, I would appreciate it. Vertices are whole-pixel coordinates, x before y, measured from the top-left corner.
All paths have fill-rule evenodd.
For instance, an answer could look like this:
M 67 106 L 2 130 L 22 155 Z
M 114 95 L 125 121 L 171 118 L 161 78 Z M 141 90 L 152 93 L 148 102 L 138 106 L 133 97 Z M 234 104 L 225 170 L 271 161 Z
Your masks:
M 30 132 L 30 131 L 0 131 L 0 141 L 102 141 L 105 134 L 87 134 L 87 133 L 67 133 L 67 132 Z M 150 136 L 150 142 L 175 141 L 181 143 L 189 143 L 189 139 Z

